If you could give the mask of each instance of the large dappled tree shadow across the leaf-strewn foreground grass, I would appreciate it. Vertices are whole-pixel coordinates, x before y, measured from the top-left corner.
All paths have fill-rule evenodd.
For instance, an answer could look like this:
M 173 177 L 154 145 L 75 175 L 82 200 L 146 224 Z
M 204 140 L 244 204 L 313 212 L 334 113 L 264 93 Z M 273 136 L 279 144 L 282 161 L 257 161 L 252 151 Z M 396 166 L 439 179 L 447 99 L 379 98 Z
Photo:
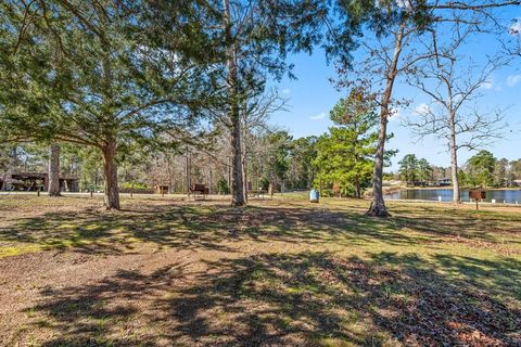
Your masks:
M 442 260 L 435 265 L 443 267 Z M 463 271 L 469 259 L 453 261 L 450 267 Z M 501 261 L 492 266 L 506 266 Z M 509 261 L 521 268 L 519 261 Z M 486 287 L 441 274 L 433 264 L 416 256 L 387 253 L 364 260 L 327 253 L 263 254 L 208 261 L 207 267 L 182 283 L 185 269 L 166 267 L 151 275 L 122 272 L 101 283 L 43 292 L 34 311 L 61 336 L 46 339 L 43 346 L 86 342 L 153 346 L 521 344 L 519 301 L 508 306 Z M 507 281 L 498 284 L 506 288 L 517 281 L 508 280 L 510 274 L 494 281 Z M 474 273 L 475 280 L 486 275 Z M 115 310 L 120 303 L 125 307 Z M 98 317 L 104 318 L 102 329 L 92 324 Z

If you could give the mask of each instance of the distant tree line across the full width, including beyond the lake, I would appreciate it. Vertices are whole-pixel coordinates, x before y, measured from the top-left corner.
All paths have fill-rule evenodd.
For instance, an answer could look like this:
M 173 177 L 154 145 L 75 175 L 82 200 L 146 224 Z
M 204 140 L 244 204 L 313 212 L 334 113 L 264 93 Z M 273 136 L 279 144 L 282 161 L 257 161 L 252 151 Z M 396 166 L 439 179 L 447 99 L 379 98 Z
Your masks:
M 320 137 L 293 139 L 287 131 L 277 128 L 249 133 L 246 191 L 276 193 L 316 188 L 325 196 L 361 197 L 372 179 L 370 164 L 374 155 L 374 125 L 357 125 L 358 132 L 350 128 L 354 121 L 360 121 L 360 117 L 339 120 L 339 115 L 345 115 L 346 105 L 348 100 L 343 99 L 333 108 L 331 117 L 338 123 Z M 217 143 L 212 152 L 198 147 L 185 147 L 183 151 L 134 149 L 131 155 L 117 157 L 119 189 L 150 192 L 162 184 L 168 185 L 171 193 L 187 193 L 188 184 L 192 182 L 206 184 L 214 194 L 229 194 L 231 157 L 226 153 L 226 143 Z M 390 152 L 389 157 L 393 154 Z M 60 175 L 77 177 L 81 191 L 103 190 L 103 167 L 100 163 L 98 152 L 89 147 L 75 144 L 61 146 Z M 402 180 L 408 187 L 450 182 L 450 167 L 432 165 L 415 154 L 405 155 L 398 165 L 396 174 L 385 175 L 386 180 Z M 0 146 L 0 178 L 7 171 L 47 171 L 48 166 L 46 144 Z M 521 158 L 498 159 L 491 152 L 481 151 L 462 165 L 458 177 L 462 188 L 519 187 Z

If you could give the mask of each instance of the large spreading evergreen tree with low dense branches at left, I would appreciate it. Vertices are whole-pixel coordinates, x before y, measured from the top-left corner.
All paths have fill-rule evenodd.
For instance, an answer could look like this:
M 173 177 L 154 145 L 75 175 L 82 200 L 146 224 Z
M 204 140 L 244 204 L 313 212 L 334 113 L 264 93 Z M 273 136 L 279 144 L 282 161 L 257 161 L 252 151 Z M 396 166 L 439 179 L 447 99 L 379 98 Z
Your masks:
M 211 94 L 205 10 L 178 1 L 165 15 L 155 3 L 112 0 L 13 0 L 1 10 L 3 136 L 98 149 L 105 206 L 118 209 L 122 144 L 193 125 Z

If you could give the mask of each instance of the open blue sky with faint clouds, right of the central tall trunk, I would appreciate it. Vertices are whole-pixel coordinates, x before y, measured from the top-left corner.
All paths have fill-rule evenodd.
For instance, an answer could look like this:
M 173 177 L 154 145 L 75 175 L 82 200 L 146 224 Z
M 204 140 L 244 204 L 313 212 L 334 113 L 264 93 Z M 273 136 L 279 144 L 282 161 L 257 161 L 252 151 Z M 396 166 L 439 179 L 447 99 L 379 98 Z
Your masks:
M 510 17 L 521 17 L 521 10 L 512 11 Z M 473 42 L 462 51 L 465 54 L 479 55 L 482 47 L 493 47 L 492 38 L 482 38 L 480 42 Z M 277 83 L 281 95 L 289 99 L 290 110 L 278 112 L 272 115 L 274 124 L 289 130 L 294 137 L 318 136 L 332 126 L 329 119 L 329 111 L 343 97 L 346 91 L 339 92 L 329 81 L 335 77 L 334 67 L 327 65 L 323 52 L 316 50 L 313 55 L 297 54 L 289 57 L 295 64 L 294 74 L 297 80 L 283 79 Z M 401 110 L 401 117 L 410 115 L 417 107 L 429 103 L 429 99 L 421 92 L 408 86 L 397 85 L 397 95 L 406 95 L 412 104 L 407 110 Z M 508 159 L 521 158 L 521 59 L 512 61 L 510 66 L 495 72 L 491 83 L 482 88 L 484 97 L 480 99 L 480 105 L 488 108 L 507 108 L 505 120 L 508 128 L 505 139 L 487 147 L 496 157 Z M 436 139 L 425 139 L 418 142 L 414 132 L 403 126 L 399 120 L 391 120 L 389 130 L 395 137 L 387 143 L 389 149 L 396 149 L 399 153 L 393 158 L 391 169 L 397 168 L 397 162 L 408 154 L 415 153 L 419 157 L 427 158 L 431 164 L 449 166 L 449 156 L 445 152 L 443 142 Z M 460 164 L 463 164 L 472 153 L 460 152 Z

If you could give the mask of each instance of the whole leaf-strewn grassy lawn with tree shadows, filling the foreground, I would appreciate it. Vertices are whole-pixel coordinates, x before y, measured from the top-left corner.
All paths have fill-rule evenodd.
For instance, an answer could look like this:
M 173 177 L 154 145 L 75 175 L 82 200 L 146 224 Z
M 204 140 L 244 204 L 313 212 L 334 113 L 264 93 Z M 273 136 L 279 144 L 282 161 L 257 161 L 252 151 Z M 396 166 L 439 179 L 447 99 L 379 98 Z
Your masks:
M 0 196 L 0 345 L 521 346 L 521 208 Z

